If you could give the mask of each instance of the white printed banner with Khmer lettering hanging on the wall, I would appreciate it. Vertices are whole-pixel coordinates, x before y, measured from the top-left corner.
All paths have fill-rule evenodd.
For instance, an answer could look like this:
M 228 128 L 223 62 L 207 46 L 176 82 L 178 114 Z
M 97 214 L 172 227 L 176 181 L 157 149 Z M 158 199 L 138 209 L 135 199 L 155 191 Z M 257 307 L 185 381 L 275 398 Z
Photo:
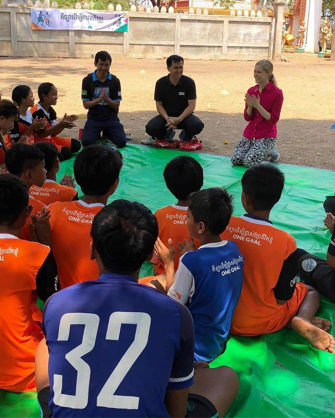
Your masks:
M 128 32 L 128 12 L 76 9 L 30 9 L 32 29 Z

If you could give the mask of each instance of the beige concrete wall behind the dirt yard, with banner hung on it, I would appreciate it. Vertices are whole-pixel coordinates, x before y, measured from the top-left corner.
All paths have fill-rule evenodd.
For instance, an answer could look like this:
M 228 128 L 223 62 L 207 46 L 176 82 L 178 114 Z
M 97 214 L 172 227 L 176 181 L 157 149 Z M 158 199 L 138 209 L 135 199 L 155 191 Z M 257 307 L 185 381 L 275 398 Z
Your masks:
M 28 8 L 0 8 L 0 55 L 259 60 L 272 56 L 271 18 L 129 13 L 129 32 L 32 31 Z

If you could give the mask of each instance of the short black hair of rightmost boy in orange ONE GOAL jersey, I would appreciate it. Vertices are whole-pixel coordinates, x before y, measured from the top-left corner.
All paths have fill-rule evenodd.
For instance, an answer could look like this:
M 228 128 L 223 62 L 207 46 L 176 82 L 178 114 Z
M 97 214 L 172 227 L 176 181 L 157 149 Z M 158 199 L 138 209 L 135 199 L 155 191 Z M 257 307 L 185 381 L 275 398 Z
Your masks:
M 254 209 L 271 210 L 282 196 L 285 176 L 276 166 L 262 163 L 248 168 L 241 183 Z

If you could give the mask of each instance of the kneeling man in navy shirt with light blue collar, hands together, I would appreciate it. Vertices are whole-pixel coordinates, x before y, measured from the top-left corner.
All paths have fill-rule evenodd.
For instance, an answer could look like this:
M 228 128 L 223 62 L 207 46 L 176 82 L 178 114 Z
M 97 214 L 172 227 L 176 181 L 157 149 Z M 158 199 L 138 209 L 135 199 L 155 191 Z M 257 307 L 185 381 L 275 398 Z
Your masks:
M 119 148 L 127 143 L 123 125 L 117 117 L 122 100 L 121 84 L 116 76 L 110 74 L 111 64 L 108 52 L 98 52 L 94 59 L 96 70 L 83 79 L 81 99 L 85 109 L 89 110 L 81 136 L 84 147 L 95 144 L 101 132 Z

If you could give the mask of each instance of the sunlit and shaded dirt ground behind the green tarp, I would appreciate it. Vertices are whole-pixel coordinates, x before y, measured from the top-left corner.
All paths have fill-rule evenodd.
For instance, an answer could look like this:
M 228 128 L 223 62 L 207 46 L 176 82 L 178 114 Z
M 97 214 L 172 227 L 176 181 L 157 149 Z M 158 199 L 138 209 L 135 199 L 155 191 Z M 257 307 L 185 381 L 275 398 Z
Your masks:
M 274 64 L 274 74 L 284 93 L 278 127 L 277 148 L 283 163 L 335 170 L 335 61 L 319 59 L 316 54 L 285 54 L 287 62 Z M 10 98 L 18 84 L 29 85 L 35 94 L 42 82 L 52 82 L 58 89 L 55 110 L 80 115 L 77 127 L 63 131 L 78 138 L 84 127 L 86 110 L 81 102 L 81 80 L 94 70 L 93 59 L 1 58 L 0 92 Z M 195 80 L 197 105 L 195 115 L 205 124 L 199 135 L 203 152 L 231 155 L 241 138 L 244 93 L 255 84 L 252 61 L 185 60 L 184 74 Z M 143 71 L 144 70 L 144 71 Z M 111 72 L 121 80 L 122 103 L 119 117 L 133 143 L 145 138 L 147 121 L 157 114 L 153 98 L 155 82 L 166 71 L 165 60 L 119 59 Z M 226 93 L 226 94 L 223 94 Z M 228 144 L 224 144 L 228 141 Z

